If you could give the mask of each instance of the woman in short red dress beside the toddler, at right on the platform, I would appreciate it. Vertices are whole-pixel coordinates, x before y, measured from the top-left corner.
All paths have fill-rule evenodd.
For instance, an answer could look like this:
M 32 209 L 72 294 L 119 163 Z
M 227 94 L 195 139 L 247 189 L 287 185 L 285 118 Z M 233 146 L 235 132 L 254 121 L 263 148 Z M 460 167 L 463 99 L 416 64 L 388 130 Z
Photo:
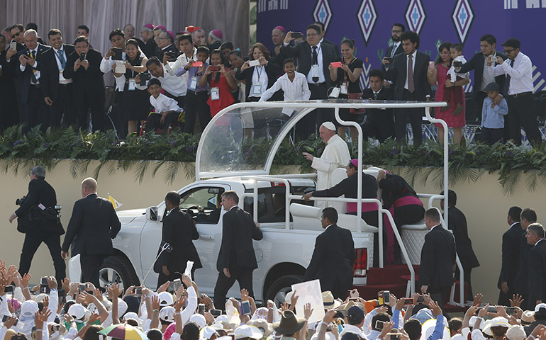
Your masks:
M 449 71 L 453 62 L 450 55 L 450 47 L 451 42 L 444 42 L 442 45 L 440 45 L 440 47 L 438 47 L 440 55 L 438 56 L 438 60 L 436 60 L 434 67 L 431 67 L 431 65 L 429 65 L 427 78 L 428 84 L 430 84 L 430 86 L 438 84 L 434 99 L 435 101 L 444 100 L 444 91 L 446 88 L 455 86 L 455 90 L 453 92 L 455 93 L 455 91 L 461 91 L 462 93 L 462 113 L 455 114 L 456 108 L 455 106 L 452 106 L 445 109 L 444 111 L 442 111 L 442 108 L 435 108 L 434 114 L 435 118 L 445 120 L 448 128 L 453 128 L 453 142 L 458 145 L 460 144 L 462 139 L 462 128 L 464 127 L 464 125 L 466 125 L 466 118 L 464 117 L 464 89 L 462 86 L 468 84 L 470 82 L 470 79 L 467 75 L 466 79 L 455 81 L 455 83 L 451 82 L 450 76 L 447 74 L 447 71 Z M 454 101 L 453 97 L 454 95 L 452 94 L 452 102 Z M 444 128 L 442 128 L 442 125 L 440 124 L 435 124 L 435 126 L 438 128 L 438 142 L 440 142 L 440 144 L 443 144 Z

